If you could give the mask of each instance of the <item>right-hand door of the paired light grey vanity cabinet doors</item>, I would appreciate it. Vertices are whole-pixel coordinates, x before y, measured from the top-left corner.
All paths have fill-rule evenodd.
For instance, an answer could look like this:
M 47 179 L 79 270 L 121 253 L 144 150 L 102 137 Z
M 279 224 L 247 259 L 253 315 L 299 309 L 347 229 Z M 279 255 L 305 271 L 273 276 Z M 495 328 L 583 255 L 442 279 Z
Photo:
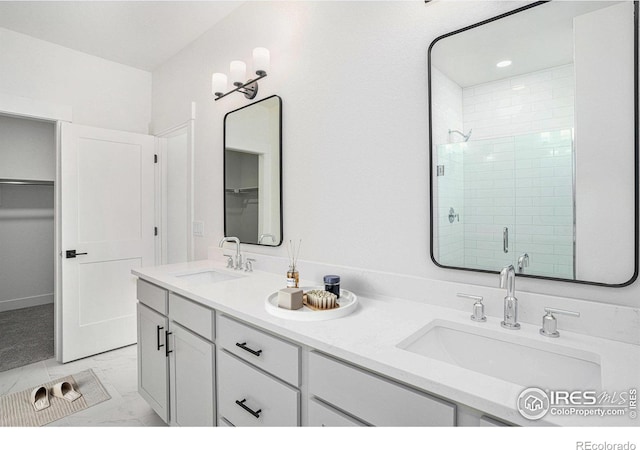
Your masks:
M 171 424 L 215 426 L 214 345 L 171 322 Z

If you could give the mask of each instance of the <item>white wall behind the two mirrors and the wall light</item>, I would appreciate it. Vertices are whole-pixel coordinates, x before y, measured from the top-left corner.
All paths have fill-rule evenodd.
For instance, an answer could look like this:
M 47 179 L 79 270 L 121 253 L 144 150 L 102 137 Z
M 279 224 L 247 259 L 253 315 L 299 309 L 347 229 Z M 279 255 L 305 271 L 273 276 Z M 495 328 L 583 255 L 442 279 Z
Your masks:
M 265 46 L 272 69 L 258 97 L 283 99 L 284 238 L 302 238 L 300 260 L 495 286 L 497 275 L 439 269 L 429 258 L 426 52 L 436 37 L 521 4 L 247 3 L 154 71 L 154 129 L 180 123 L 197 103 L 195 219 L 206 235 L 196 258 L 223 233 L 223 117 L 247 104 L 237 94 L 214 102 L 211 73 Z M 243 247 L 286 257 L 284 247 Z M 519 280 L 518 289 L 640 302 L 637 284 Z

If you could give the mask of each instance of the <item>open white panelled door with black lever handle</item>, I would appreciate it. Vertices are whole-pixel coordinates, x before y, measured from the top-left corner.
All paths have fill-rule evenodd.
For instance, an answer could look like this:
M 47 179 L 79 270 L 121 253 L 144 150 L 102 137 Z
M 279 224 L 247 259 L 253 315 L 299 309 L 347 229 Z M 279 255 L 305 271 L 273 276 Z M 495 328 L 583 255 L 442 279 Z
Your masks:
M 62 125 L 62 362 L 136 342 L 131 269 L 154 262 L 153 153 L 152 136 Z

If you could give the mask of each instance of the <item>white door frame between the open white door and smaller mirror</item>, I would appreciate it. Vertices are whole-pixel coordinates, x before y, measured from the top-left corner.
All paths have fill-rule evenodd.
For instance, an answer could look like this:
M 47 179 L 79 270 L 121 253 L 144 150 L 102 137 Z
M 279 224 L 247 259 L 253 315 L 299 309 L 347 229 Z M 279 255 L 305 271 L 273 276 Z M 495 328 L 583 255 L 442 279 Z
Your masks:
M 155 169 L 155 219 L 160 224 L 158 236 L 156 237 L 156 265 L 166 264 L 167 235 L 164 232 L 167 228 L 167 139 L 171 136 L 185 131 L 187 135 L 187 261 L 193 261 L 194 257 L 194 240 L 192 224 L 194 220 L 194 153 L 195 153 L 195 102 L 191 103 L 190 117 L 184 122 L 169 127 L 160 132 L 154 133 L 156 137 L 156 154 L 158 155 L 158 164 Z

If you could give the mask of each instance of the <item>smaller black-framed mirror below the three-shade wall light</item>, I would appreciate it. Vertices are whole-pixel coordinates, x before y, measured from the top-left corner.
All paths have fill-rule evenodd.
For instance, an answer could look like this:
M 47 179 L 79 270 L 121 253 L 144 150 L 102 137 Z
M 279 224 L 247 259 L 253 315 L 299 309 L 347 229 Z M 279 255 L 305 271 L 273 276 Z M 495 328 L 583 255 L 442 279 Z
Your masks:
M 265 98 L 224 117 L 224 234 L 282 243 L 282 100 Z

